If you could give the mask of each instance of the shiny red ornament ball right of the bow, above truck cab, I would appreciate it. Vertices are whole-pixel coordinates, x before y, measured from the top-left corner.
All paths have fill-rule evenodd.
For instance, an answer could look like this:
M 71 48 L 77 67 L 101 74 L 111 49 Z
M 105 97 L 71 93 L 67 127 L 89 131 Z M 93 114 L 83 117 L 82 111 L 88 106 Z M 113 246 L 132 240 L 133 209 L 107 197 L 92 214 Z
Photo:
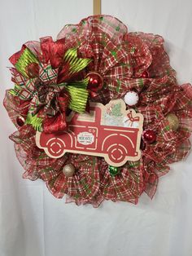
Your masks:
M 89 77 L 87 89 L 98 91 L 103 87 L 103 77 L 99 73 L 90 72 L 86 77 Z

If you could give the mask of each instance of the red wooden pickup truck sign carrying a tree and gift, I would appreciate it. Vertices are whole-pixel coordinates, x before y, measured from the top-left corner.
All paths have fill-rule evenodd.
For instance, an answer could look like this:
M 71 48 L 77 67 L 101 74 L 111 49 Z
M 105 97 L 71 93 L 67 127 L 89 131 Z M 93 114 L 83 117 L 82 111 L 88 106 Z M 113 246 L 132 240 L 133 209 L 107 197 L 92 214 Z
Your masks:
M 37 132 L 37 147 L 53 158 L 72 152 L 104 157 L 111 166 L 137 161 L 141 157 L 143 117 L 125 108 L 122 99 L 112 100 L 106 106 L 92 103 L 90 113 L 71 113 L 68 130 L 59 134 Z

